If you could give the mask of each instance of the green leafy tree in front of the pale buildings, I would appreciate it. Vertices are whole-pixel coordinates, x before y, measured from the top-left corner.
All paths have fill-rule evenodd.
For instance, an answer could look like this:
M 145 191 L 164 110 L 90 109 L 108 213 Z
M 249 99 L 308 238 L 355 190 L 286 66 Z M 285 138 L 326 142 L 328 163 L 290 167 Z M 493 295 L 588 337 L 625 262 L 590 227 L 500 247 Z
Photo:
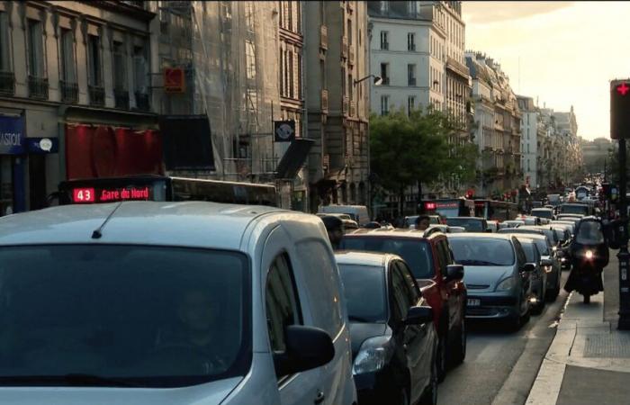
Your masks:
M 455 129 L 448 114 L 434 109 L 370 117 L 372 171 L 385 189 L 398 193 L 401 213 L 410 185 L 421 189 L 444 175 L 474 175 L 474 157 L 472 163 L 470 157 L 461 158 L 470 148 L 448 143 Z

